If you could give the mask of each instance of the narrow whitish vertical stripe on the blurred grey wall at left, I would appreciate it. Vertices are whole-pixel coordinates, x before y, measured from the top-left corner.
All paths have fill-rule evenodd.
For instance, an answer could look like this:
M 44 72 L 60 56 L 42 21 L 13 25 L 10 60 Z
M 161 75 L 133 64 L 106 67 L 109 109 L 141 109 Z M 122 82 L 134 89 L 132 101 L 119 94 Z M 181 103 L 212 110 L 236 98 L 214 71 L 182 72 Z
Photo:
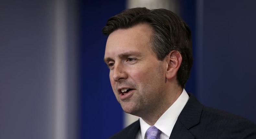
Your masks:
M 66 139 L 66 1 L 55 1 L 55 139 Z

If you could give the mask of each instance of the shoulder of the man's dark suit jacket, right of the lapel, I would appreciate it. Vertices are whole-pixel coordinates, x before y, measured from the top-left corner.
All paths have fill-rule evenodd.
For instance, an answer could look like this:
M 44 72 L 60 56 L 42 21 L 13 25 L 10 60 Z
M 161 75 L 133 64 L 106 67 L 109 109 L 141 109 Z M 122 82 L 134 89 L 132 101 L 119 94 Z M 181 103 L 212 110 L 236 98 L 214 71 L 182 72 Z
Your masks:
M 198 127 L 208 133 L 204 137 L 212 134 L 219 138 L 256 138 L 255 123 L 236 114 L 205 106 Z

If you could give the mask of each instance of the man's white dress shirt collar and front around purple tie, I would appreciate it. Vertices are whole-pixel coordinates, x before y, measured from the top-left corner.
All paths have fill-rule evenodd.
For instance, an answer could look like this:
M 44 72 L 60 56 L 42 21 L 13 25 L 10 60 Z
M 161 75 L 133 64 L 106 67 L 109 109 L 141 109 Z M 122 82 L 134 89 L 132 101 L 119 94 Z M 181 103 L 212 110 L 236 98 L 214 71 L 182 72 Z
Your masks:
M 160 139 L 169 139 L 174 124 L 176 123 L 180 112 L 188 102 L 188 99 L 189 96 L 185 89 L 183 89 L 179 98 L 157 120 L 154 126 L 161 131 Z M 137 133 L 136 139 L 146 139 L 145 133 L 150 126 L 151 125 L 140 118 L 140 130 Z

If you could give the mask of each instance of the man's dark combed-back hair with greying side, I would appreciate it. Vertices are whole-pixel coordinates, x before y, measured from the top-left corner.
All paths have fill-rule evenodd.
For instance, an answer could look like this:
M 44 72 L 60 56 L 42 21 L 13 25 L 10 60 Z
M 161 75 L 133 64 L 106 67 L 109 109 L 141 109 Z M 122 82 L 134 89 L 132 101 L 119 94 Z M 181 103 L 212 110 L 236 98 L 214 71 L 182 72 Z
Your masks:
M 145 7 L 126 9 L 109 18 L 102 32 L 110 35 L 117 29 L 130 28 L 143 23 L 149 24 L 153 29 L 150 47 L 159 60 L 163 60 L 172 50 L 180 52 L 182 62 L 177 80 L 184 88 L 192 67 L 191 31 L 175 13 L 166 9 L 149 10 Z

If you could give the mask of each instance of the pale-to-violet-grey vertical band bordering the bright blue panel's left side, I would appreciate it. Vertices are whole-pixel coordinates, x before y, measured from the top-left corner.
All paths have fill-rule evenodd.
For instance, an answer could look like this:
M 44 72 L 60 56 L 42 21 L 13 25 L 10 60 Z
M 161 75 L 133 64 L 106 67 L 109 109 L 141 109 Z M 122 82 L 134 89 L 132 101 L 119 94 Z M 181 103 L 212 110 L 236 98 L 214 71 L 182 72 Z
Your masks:
M 54 5 L 54 138 L 77 138 L 78 5 L 55 0 Z

